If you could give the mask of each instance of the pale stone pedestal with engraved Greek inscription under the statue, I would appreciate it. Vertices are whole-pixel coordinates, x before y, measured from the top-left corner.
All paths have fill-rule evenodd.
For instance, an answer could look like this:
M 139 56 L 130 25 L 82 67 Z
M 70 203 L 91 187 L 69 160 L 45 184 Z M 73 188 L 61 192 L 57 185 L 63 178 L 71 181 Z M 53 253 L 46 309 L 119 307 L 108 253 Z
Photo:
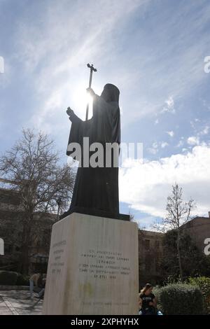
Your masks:
M 53 225 L 43 314 L 137 315 L 136 223 L 73 213 Z

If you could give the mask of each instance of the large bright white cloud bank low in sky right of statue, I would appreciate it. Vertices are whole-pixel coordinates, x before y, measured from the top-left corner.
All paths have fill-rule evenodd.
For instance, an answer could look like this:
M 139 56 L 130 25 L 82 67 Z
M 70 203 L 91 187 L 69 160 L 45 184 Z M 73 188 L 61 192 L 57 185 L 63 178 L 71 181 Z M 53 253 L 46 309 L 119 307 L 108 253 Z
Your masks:
M 183 197 L 193 197 L 196 213 L 210 210 L 210 147 L 195 146 L 186 154 L 176 154 L 158 161 L 135 163 L 120 168 L 120 201 L 150 216 L 165 216 L 167 196 L 176 182 L 183 187 Z

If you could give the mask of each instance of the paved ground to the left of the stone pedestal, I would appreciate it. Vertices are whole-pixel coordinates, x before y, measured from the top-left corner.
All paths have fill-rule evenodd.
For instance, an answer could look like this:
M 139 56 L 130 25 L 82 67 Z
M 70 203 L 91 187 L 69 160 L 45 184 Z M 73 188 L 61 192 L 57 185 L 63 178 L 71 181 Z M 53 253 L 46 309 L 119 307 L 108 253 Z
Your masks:
M 0 290 L 0 315 L 41 315 L 42 304 L 38 298 L 30 300 L 29 291 Z

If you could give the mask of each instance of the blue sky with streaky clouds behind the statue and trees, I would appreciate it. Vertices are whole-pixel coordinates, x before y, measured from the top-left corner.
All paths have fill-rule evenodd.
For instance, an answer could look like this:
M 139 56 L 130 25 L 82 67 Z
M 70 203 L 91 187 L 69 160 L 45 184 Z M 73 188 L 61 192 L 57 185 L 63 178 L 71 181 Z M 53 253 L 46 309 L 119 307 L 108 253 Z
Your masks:
M 122 140 L 144 163 L 120 169 L 120 209 L 148 227 L 176 181 L 195 214 L 210 211 L 210 2 L 0 0 L 1 152 L 22 127 L 50 134 L 66 162 L 67 106 L 85 118 L 92 87 L 120 89 Z

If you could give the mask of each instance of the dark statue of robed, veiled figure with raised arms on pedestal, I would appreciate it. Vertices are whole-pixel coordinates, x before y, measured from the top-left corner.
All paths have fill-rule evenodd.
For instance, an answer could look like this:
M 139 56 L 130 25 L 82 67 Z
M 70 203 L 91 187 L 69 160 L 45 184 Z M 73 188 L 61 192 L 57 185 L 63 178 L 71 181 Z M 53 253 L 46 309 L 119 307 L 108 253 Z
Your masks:
M 73 151 L 69 147 L 72 143 L 78 143 L 81 147 L 82 158 L 78 167 L 76 181 L 73 189 L 71 206 L 68 214 L 78 212 L 109 218 L 119 218 L 119 197 L 118 197 L 118 166 L 116 157 L 119 155 L 120 146 L 120 92 L 115 85 L 106 84 L 101 96 L 92 95 L 92 118 L 80 120 L 71 109 L 69 109 L 69 120 L 71 130 L 66 154 L 71 156 Z M 99 167 L 84 167 L 83 161 L 86 152 L 89 158 L 94 152 L 84 149 L 84 137 L 89 138 L 92 143 L 100 143 L 104 147 L 104 156 L 99 160 Z M 117 144 L 111 153 L 111 165 L 106 167 L 106 144 Z M 110 156 L 110 153 L 109 153 Z M 103 161 L 103 166 L 102 166 Z

